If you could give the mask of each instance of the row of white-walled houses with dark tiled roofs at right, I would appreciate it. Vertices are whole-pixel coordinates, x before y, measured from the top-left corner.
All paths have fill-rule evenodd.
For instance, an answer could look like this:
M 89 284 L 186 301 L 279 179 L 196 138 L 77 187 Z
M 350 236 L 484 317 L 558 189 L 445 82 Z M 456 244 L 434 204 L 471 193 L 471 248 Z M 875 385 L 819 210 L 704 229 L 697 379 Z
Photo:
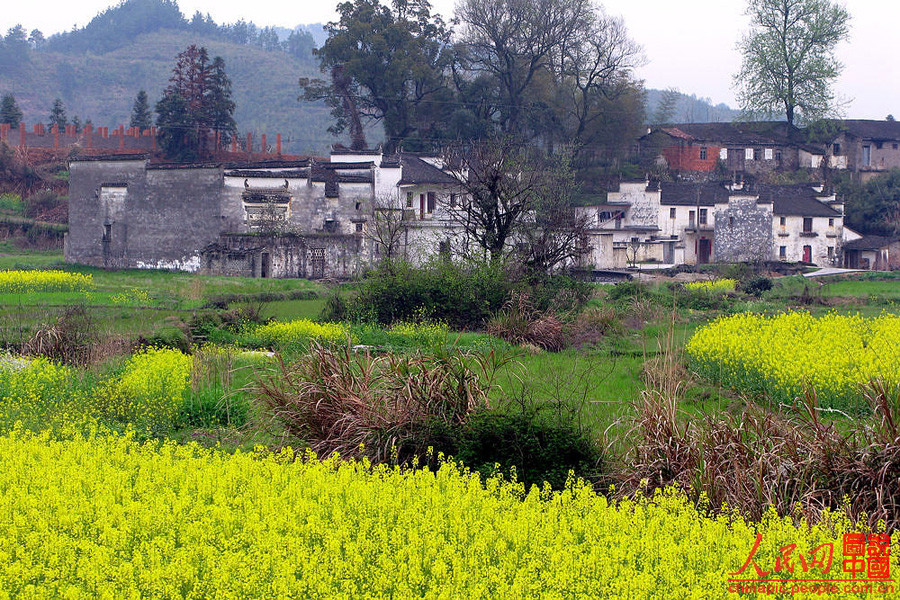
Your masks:
M 782 260 L 841 264 L 843 205 L 806 185 L 623 182 L 591 223 L 584 266 Z

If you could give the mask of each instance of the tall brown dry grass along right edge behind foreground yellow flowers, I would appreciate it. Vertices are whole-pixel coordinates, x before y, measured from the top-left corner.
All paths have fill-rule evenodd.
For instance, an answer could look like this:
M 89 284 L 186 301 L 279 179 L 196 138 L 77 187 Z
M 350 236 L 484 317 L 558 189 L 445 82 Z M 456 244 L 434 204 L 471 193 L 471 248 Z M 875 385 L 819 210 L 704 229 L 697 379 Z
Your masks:
M 869 383 L 862 395 L 874 425 L 849 431 L 821 420 L 812 389 L 798 416 L 748 405 L 738 415 L 686 418 L 676 362 L 659 360 L 645 371 L 648 387 L 635 403 L 638 442 L 618 493 L 676 484 L 698 505 L 752 519 L 774 506 L 810 521 L 837 509 L 868 526 L 900 525 L 900 389 Z

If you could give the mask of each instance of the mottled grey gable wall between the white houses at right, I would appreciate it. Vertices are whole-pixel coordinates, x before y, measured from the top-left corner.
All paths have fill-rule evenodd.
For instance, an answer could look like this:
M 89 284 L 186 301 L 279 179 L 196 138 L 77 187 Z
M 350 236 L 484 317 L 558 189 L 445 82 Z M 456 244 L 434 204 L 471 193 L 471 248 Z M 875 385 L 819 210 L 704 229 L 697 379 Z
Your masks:
M 733 195 L 715 207 L 713 252 L 718 262 L 772 260 L 772 205 Z

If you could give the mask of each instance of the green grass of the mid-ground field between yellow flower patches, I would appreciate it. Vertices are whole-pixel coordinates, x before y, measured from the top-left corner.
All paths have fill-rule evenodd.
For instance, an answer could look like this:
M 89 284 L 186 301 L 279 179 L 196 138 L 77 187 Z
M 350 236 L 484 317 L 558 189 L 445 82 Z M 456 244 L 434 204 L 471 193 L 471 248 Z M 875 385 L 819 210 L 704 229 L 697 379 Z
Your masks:
M 182 336 L 192 324 L 230 312 L 249 311 L 259 320 L 315 320 L 329 291 L 296 279 L 212 277 L 188 273 L 124 270 L 65 265 L 58 252 L 23 253 L 0 246 L 0 269 L 63 268 L 90 275 L 83 292 L 0 293 L 0 343 L 15 349 L 43 325 L 72 306 L 83 307 L 104 336 L 133 343 Z M 642 288 L 621 304 L 626 327 L 588 348 L 558 353 L 506 349 L 512 360 L 498 374 L 500 395 L 510 403 L 541 404 L 566 411 L 597 436 L 616 437 L 628 430 L 633 404 L 644 389 L 644 364 L 664 348 L 681 353 L 696 328 L 718 314 L 752 311 L 775 314 L 786 309 L 874 316 L 891 311 L 900 299 L 900 280 L 871 274 L 823 280 L 784 277 L 759 298 L 742 298 L 708 307 L 686 292 L 666 291 L 661 284 Z M 352 286 L 348 286 L 352 290 Z M 598 286 L 587 308 L 608 305 Z M 456 334 L 454 334 L 456 335 Z M 462 334 L 463 344 L 471 339 Z M 452 336 L 451 336 L 452 337 Z M 477 336 L 476 336 L 477 337 Z M 469 341 L 466 341 L 469 340 Z M 743 402 L 710 382 L 689 379 L 683 409 L 688 415 L 718 412 Z M 555 408 L 554 408 L 555 407 Z M 183 434 L 180 434 L 183 437 Z

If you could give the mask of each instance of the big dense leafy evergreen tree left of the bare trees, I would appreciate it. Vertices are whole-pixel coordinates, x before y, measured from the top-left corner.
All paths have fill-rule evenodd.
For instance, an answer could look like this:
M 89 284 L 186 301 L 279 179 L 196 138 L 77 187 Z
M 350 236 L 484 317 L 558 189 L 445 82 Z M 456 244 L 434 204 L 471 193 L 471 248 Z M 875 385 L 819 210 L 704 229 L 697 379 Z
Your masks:
M 427 0 L 394 0 L 392 6 L 354 0 L 339 4 L 338 12 L 340 20 L 328 24 L 328 40 L 316 55 L 323 73 L 340 78 L 301 79 L 302 98 L 330 103 L 332 133 L 344 131 L 356 116 L 380 122 L 387 152 L 426 137 L 422 130 L 435 121 L 435 102 L 446 89 L 450 33 L 444 22 L 431 14 Z M 350 90 L 353 102 L 337 87 Z M 357 115 L 348 112 L 351 107 Z

